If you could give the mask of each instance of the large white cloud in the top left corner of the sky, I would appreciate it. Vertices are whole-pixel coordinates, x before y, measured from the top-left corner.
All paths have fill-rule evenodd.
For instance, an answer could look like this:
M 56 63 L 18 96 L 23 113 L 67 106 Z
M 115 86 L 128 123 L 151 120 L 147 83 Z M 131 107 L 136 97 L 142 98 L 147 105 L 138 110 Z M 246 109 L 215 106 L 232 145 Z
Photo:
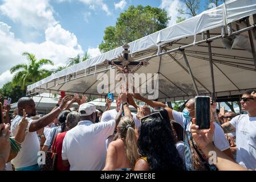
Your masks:
M 3 0 L 0 11 L 14 22 L 26 27 L 47 28 L 55 26 L 54 10 L 49 0 Z

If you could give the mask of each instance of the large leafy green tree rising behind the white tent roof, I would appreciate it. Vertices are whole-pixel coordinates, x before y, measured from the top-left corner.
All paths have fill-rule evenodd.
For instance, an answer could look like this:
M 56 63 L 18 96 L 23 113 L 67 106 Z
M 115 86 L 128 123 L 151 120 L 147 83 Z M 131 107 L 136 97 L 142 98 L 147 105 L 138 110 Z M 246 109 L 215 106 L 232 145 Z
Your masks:
M 125 43 L 143 38 L 167 27 L 168 16 L 165 10 L 139 5 L 129 6 L 117 18 L 116 26 L 105 28 L 104 41 L 99 45 L 101 52 L 107 52 Z

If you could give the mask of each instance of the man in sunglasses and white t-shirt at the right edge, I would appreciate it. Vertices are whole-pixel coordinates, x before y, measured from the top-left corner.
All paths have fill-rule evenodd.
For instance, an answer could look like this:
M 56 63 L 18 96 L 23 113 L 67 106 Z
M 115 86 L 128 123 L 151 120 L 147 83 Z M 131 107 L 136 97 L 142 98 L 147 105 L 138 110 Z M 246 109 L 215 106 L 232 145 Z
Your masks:
M 256 168 L 256 89 L 246 90 L 241 98 L 243 111 L 221 125 L 225 133 L 235 132 L 237 144 L 237 163 L 247 169 Z

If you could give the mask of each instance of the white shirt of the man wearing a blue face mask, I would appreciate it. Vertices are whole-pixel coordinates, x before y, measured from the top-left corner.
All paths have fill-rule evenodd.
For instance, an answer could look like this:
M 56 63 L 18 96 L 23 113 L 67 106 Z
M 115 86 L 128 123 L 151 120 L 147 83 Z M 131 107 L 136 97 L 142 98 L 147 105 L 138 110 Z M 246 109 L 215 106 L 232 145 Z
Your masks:
M 179 123 L 184 128 L 184 122 L 186 118 L 184 118 L 181 112 L 177 112 L 176 110 L 172 110 L 173 119 L 175 122 Z M 192 122 L 189 123 L 188 127 L 186 127 L 186 131 L 190 131 L 190 126 Z M 221 151 L 227 150 L 230 148 L 229 142 L 227 141 L 224 131 L 221 126 L 214 122 L 215 130 L 213 135 L 213 143 L 214 145 Z

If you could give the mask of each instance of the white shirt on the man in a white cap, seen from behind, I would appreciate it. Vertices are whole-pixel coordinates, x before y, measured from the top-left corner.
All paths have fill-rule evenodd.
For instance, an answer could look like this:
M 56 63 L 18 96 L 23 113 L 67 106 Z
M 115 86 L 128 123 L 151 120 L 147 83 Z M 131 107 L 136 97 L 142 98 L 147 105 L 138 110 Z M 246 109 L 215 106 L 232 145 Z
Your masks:
M 99 171 L 105 166 L 105 140 L 115 131 L 116 121 L 80 121 L 63 140 L 62 159 L 70 163 L 70 171 Z

